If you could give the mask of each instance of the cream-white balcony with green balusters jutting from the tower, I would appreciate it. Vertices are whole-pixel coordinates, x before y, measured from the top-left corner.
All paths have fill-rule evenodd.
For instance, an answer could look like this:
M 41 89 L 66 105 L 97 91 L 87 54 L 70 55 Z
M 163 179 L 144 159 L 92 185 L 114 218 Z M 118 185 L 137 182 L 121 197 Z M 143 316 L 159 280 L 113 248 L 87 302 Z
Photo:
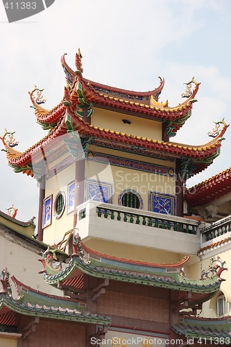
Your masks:
M 96 238 L 196 255 L 200 248 L 198 221 L 135 208 L 86 201 L 77 208 L 80 237 Z

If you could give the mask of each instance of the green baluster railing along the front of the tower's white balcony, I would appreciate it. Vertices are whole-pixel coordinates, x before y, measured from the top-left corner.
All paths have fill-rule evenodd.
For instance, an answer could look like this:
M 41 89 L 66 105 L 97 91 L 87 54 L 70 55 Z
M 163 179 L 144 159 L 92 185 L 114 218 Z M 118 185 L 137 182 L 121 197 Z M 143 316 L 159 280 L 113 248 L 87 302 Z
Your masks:
M 149 226 L 159 229 L 174 230 L 196 235 L 198 231 L 198 221 L 185 219 L 182 217 L 171 216 L 126 208 L 124 206 L 99 203 L 96 205 L 96 215 L 100 218 L 121 221 L 123 223 L 133 223 L 137 225 Z M 80 219 L 86 217 L 86 210 L 80 210 Z

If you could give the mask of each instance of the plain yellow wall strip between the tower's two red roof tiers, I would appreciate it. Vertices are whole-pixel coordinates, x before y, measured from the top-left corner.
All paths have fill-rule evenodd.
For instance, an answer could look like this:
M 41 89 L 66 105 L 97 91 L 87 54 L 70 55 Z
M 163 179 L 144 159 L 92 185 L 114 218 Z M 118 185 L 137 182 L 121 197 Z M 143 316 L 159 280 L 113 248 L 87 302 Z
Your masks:
M 120 131 L 128 135 L 142 136 L 148 139 L 162 139 L 162 123 L 151 119 L 143 119 L 119 112 L 93 108 L 91 118 L 94 126 L 109 130 Z M 123 124 L 122 119 L 128 119 L 131 124 Z

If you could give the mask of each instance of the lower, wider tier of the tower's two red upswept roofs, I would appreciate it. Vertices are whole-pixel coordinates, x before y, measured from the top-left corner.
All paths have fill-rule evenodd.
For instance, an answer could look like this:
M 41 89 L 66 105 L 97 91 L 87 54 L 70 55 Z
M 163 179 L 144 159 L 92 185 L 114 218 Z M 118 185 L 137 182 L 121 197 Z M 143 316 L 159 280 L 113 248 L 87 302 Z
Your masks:
M 79 111 L 82 112 L 82 111 Z M 224 124 L 219 134 L 205 145 L 189 146 L 187 144 L 179 144 L 176 142 L 163 142 L 135 135 L 128 135 L 114 130 L 95 127 L 83 121 L 83 117 L 76 115 L 71 111 L 69 105 L 66 105 L 65 117 L 63 117 L 57 126 L 50 130 L 40 142 L 31 146 L 24 153 L 15 151 L 14 148 L 8 146 L 8 143 L 1 137 L 5 151 L 7 152 L 8 164 L 13 167 L 16 172 L 23 172 L 24 174 L 33 176 L 32 156 L 36 162 L 44 159 L 44 148 L 49 150 L 53 146 L 53 141 L 57 140 L 60 135 L 65 135 L 71 131 L 77 130 L 80 135 L 87 135 L 87 137 L 96 137 L 106 141 L 118 142 L 119 144 L 128 144 L 134 148 L 145 148 L 157 151 L 159 153 L 169 153 L 170 155 L 178 156 L 179 158 L 187 157 L 191 161 L 192 169 L 191 175 L 197 174 L 209 166 L 219 155 L 221 141 L 223 135 L 228 128 Z M 135 146 L 135 147 L 134 147 Z

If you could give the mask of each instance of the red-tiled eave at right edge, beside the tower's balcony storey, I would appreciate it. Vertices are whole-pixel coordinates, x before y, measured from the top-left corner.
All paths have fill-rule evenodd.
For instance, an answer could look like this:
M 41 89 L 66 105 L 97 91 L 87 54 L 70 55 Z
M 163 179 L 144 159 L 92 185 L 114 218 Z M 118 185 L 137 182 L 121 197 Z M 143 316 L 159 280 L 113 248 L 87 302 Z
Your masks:
M 190 187 L 185 192 L 187 203 L 194 206 L 205 205 L 215 198 L 231 192 L 231 168 Z

